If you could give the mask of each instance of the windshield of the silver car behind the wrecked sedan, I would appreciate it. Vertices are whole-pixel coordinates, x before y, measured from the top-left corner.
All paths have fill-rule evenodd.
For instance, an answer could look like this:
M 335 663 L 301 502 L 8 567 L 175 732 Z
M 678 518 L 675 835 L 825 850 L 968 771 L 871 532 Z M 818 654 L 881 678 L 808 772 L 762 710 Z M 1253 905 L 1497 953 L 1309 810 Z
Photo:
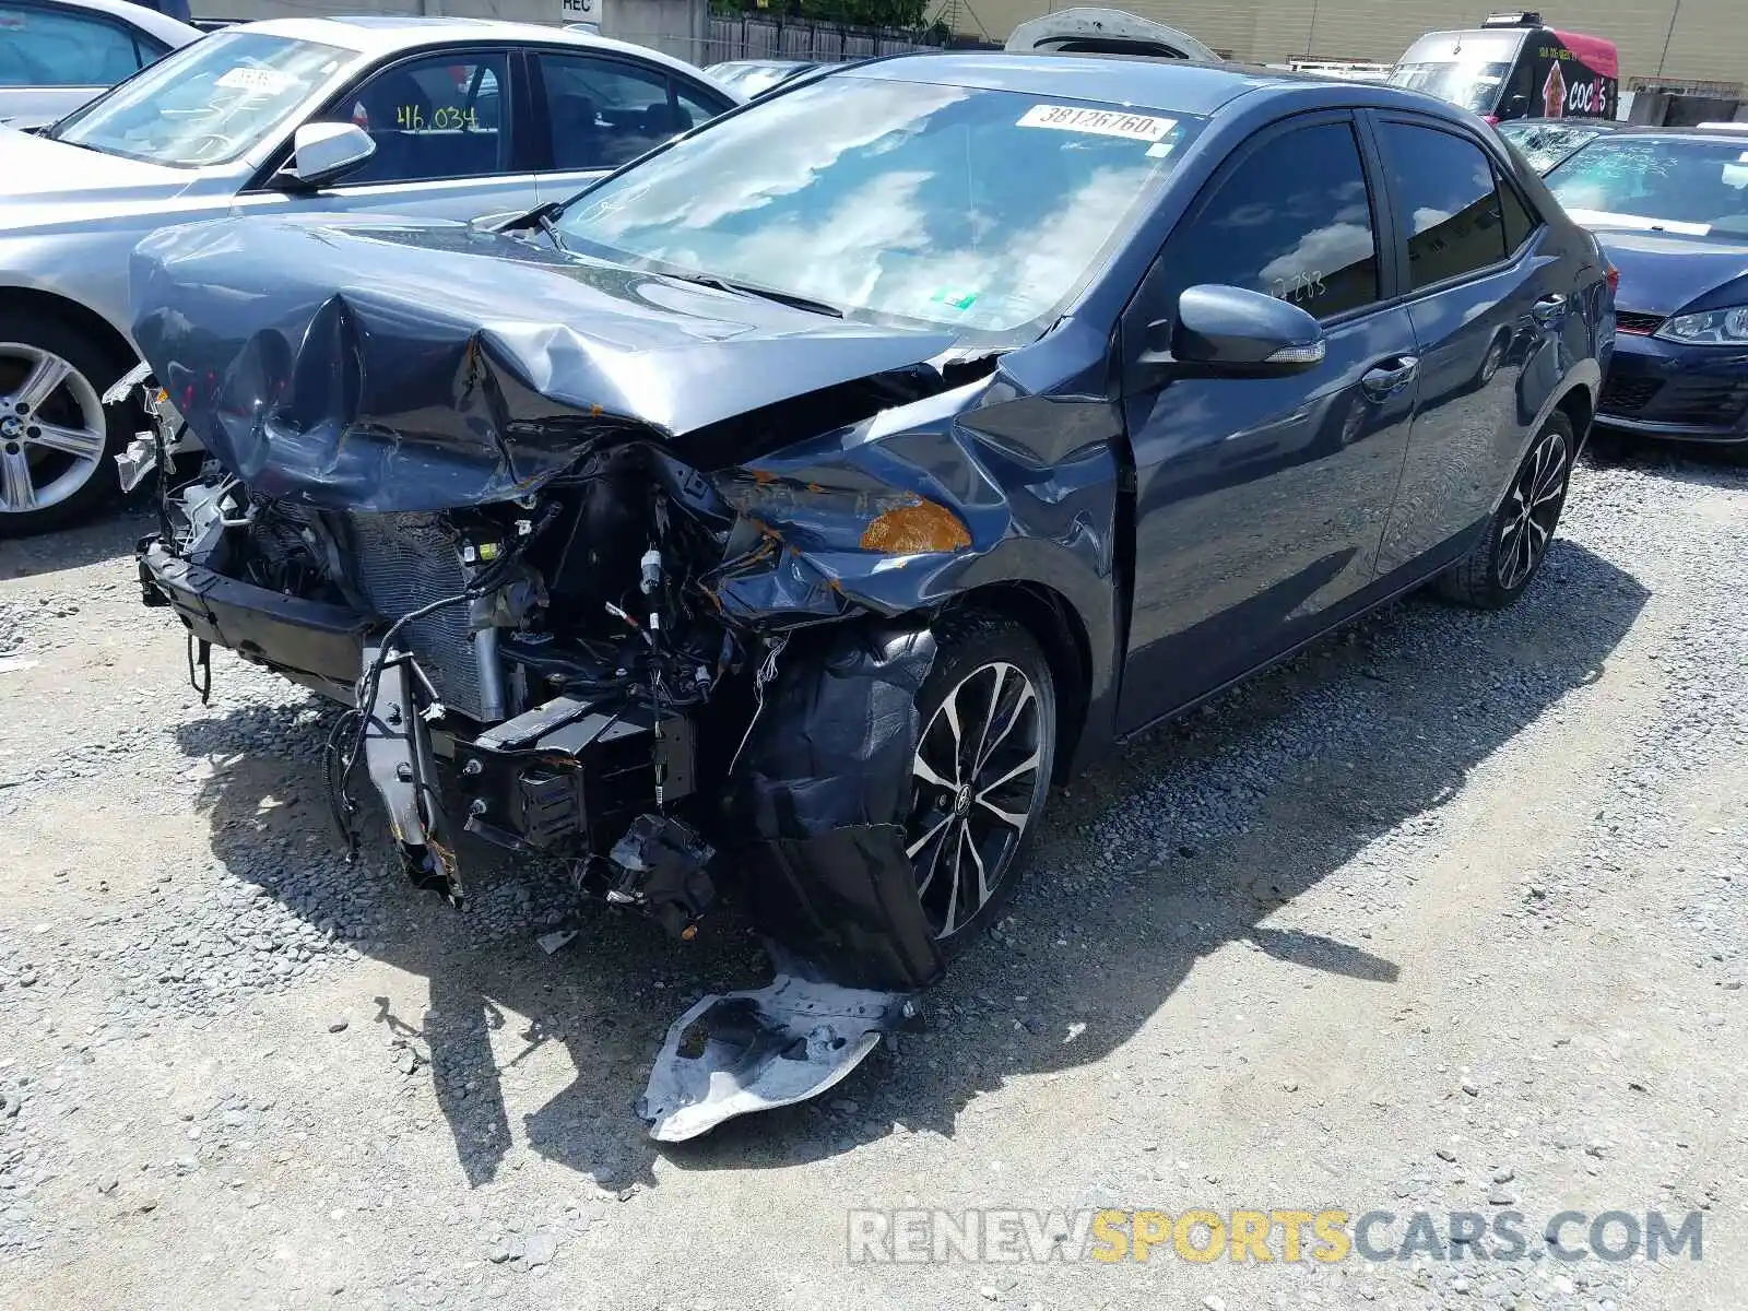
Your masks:
M 248 152 L 353 52 L 255 31 L 218 31 L 128 79 L 45 135 L 173 168 Z

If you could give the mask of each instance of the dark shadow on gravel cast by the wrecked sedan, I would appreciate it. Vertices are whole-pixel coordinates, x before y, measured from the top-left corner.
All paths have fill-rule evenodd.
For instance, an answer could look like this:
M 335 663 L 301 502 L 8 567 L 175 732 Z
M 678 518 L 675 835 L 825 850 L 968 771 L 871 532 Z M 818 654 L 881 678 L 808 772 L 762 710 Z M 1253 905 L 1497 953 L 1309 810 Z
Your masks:
M 930 1031 L 904 1035 L 897 1054 L 877 1049 L 823 1103 L 734 1120 L 669 1159 L 776 1168 L 895 1124 L 953 1134 L 981 1092 L 1108 1056 L 1231 942 L 1253 944 L 1259 970 L 1391 986 L 1395 963 L 1355 942 L 1264 921 L 1369 844 L 1435 825 L 1470 769 L 1598 678 L 1645 598 L 1633 577 L 1559 542 L 1505 614 L 1391 607 L 1131 743 L 1056 794 L 1010 918 L 926 998 Z M 489 848 L 463 848 L 474 909 L 460 916 L 385 874 L 386 848 L 344 867 L 322 801 L 327 722 L 292 704 L 184 725 L 191 755 L 253 743 L 203 785 L 213 853 L 295 914 L 430 979 L 428 1014 L 378 998 L 385 1070 L 413 1061 L 395 1038 L 428 1051 L 468 1183 L 503 1162 L 517 1117 L 544 1157 L 610 1189 L 650 1185 L 656 1147 L 633 1115 L 650 1061 L 699 995 L 764 982 L 755 939 L 725 918 L 673 944 L 642 919 L 577 905 L 552 871 L 509 871 Z M 547 956 L 533 939 L 558 925 L 579 937 Z M 510 1012 L 530 1021 L 505 1042 Z M 577 1079 L 524 1110 L 505 1077 L 545 1044 L 563 1045 Z

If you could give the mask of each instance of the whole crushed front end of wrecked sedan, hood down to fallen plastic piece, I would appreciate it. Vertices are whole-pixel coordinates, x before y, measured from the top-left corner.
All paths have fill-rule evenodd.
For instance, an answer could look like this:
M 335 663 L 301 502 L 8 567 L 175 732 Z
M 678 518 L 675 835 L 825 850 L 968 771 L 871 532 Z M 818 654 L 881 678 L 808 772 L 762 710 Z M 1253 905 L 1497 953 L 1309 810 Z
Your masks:
M 682 939 L 748 907 L 776 979 L 682 1017 L 656 1136 L 813 1096 L 911 1023 L 944 970 L 905 850 L 933 621 L 1040 530 L 1103 586 L 1099 427 L 1033 449 L 1049 402 L 951 336 L 458 227 L 166 229 L 133 301 L 143 598 L 198 687 L 218 645 L 344 706 L 348 846 L 374 790 L 456 904 L 472 836 Z

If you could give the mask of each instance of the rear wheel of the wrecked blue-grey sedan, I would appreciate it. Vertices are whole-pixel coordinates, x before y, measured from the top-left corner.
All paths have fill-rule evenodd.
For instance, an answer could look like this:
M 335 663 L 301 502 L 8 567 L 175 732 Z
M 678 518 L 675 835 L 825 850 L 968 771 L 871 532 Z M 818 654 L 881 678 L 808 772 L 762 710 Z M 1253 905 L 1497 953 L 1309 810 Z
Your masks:
M 1440 596 L 1475 610 L 1503 610 L 1524 594 L 1554 542 L 1575 449 L 1571 420 L 1556 411 L 1530 442 L 1486 537 L 1433 582 Z

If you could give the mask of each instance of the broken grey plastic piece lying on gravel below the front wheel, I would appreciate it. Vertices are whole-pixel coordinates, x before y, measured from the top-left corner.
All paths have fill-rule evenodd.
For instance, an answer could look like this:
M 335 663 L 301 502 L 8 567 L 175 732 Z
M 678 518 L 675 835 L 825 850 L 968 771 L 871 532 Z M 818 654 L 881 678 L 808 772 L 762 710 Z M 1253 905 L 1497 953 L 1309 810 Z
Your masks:
M 656 1141 L 682 1143 L 736 1115 L 792 1106 L 843 1082 L 883 1033 L 914 1017 L 907 993 L 787 974 L 755 991 L 713 993 L 668 1030 L 638 1115 Z

